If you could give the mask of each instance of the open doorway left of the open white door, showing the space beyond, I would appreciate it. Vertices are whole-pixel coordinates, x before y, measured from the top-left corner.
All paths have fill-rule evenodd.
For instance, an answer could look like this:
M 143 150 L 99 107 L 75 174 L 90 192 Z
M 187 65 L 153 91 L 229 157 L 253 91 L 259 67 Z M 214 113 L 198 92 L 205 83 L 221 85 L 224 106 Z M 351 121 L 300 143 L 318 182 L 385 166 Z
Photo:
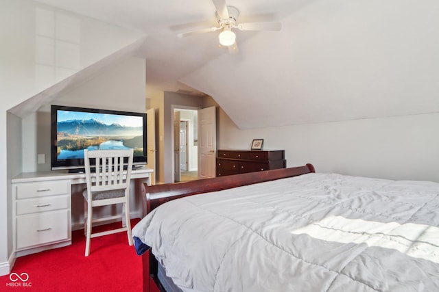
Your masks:
M 198 111 L 174 109 L 174 181 L 198 178 Z

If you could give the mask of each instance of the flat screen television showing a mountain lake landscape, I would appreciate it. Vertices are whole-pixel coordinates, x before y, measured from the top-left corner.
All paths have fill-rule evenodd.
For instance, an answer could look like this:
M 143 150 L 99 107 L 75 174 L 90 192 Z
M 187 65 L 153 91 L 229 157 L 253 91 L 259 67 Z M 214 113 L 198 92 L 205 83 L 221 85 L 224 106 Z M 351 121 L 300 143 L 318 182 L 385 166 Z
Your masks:
M 133 164 L 145 164 L 146 114 L 51 106 L 51 169 L 84 171 L 84 149 L 134 149 Z

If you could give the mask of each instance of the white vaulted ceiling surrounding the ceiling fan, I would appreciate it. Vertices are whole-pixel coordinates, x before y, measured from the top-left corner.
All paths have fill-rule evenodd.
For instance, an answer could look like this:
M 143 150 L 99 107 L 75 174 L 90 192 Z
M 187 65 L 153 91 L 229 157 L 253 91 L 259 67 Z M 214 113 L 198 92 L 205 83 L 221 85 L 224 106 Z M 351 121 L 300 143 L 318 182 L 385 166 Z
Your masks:
M 281 31 L 237 31 L 218 47 L 211 0 L 39 0 L 147 36 L 147 94 L 212 96 L 241 129 L 439 111 L 436 0 L 226 0 L 238 21 Z

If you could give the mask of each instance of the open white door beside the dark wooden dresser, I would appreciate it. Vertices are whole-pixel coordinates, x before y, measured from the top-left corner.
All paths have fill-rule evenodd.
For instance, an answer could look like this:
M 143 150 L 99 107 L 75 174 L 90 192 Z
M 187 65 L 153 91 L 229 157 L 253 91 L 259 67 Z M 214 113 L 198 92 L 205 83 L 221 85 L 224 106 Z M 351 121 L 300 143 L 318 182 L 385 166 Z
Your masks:
M 217 123 L 215 107 L 198 110 L 198 178 L 216 176 Z

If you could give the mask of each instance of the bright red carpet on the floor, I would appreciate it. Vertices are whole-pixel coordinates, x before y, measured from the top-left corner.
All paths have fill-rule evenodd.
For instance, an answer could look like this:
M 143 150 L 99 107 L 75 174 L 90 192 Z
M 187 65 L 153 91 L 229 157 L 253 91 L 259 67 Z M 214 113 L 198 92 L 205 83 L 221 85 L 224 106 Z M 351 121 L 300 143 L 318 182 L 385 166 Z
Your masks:
M 137 222 L 132 220 L 132 226 Z M 142 291 L 141 257 L 128 245 L 126 233 L 91 239 L 88 257 L 84 230 L 73 231 L 72 237 L 67 247 L 17 258 L 12 273 L 26 273 L 29 279 L 12 282 L 9 275 L 1 276 L 0 291 Z

